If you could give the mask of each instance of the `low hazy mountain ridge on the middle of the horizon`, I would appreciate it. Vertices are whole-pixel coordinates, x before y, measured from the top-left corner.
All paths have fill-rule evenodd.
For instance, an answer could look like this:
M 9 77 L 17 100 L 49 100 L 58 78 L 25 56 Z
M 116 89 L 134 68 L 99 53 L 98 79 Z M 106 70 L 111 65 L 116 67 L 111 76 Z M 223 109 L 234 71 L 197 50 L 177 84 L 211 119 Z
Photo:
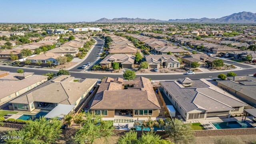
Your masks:
M 167 22 L 164 20 L 156 20 L 156 19 L 142 19 L 142 18 L 113 18 L 107 19 L 107 18 L 101 18 L 99 20 L 96 20 L 95 22 Z

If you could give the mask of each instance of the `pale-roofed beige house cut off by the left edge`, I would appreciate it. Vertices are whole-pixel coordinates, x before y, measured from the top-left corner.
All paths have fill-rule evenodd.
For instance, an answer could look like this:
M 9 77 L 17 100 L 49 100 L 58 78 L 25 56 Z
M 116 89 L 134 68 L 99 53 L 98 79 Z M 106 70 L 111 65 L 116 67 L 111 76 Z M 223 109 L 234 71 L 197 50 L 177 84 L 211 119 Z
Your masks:
M 0 109 L 9 106 L 10 100 L 46 82 L 48 78 L 48 76 L 35 75 L 33 72 L 8 74 L 0 71 L 0 73 Z

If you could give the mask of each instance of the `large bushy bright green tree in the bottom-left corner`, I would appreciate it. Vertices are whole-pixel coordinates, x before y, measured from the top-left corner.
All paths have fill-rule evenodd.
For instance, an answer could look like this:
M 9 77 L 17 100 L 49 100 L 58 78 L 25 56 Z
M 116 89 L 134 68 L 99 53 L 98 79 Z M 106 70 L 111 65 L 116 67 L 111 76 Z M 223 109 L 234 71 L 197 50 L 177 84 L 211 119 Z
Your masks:
M 20 136 L 24 139 L 5 139 L 7 144 L 50 144 L 60 136 L 62 122 L 56 118 L 46 120 L 39 118 L 28 122 L 21 130 L 8 131 L 6 136 Z

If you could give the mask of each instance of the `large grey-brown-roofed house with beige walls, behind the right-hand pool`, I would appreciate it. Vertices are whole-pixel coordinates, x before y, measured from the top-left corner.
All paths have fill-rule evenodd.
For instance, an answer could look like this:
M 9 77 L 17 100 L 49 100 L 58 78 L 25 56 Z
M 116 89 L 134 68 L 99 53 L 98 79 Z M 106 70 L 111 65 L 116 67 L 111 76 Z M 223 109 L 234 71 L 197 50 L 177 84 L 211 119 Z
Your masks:
M 247 106 L 246 103 L 205 79 L 178 78 L 160 84 L 160 91 L 172 102 L 185 121 L 241 114 L 244 106 Z

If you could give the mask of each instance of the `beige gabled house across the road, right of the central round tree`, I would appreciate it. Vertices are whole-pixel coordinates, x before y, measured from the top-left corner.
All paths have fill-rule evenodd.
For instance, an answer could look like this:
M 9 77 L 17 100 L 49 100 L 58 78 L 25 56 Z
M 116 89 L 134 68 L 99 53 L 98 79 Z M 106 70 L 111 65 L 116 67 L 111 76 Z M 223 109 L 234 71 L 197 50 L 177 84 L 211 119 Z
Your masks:
M 172 55 L 148 55 L 144 58 L 148 68 L 180 68 L 180 62 Z

